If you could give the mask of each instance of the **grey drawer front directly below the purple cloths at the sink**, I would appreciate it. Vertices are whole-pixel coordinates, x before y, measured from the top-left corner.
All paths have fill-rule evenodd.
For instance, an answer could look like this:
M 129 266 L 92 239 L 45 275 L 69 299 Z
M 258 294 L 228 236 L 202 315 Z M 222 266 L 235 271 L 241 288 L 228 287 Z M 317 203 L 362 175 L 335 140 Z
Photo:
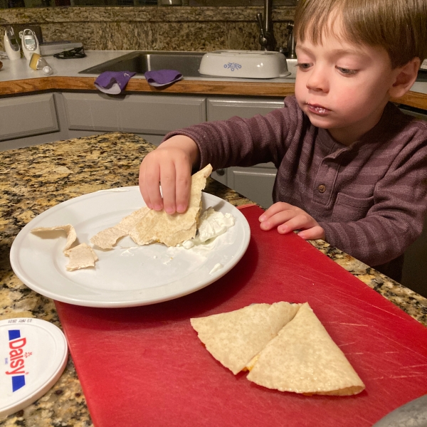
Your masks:
M 165 135 L 206 122 L 206 98 L 63 93 L 69 130 Z

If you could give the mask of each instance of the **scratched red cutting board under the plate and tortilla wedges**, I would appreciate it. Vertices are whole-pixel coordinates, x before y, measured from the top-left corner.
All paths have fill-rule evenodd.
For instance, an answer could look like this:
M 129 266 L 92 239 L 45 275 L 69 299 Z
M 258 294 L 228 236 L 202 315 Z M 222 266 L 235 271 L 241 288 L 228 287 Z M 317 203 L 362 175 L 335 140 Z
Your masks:
M 231 272 L 177 300 L 122 309 L 56 302 L 96 427 L 372 426 L 427 393 L 427 328 L 291 233 L 261 231 Z M 211 357 L 190 317 L 253 302 L 309 302 L 367 388 L 300 396 L 234 376 Z

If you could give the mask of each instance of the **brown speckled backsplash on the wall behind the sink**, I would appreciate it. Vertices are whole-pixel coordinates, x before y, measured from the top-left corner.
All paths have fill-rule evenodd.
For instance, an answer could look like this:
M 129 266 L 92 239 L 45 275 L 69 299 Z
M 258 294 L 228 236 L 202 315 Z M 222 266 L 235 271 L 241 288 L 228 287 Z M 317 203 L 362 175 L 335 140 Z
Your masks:
M 7 24 L 38 25 L 43 41 L 76 40 L 91 50 L 258 50 L 258 12 L 262 6 L 0 9 L 0 30 Z M 287 21 L 294 14 L 292 6 L 273 8 L 278 47 L 286 46 Z

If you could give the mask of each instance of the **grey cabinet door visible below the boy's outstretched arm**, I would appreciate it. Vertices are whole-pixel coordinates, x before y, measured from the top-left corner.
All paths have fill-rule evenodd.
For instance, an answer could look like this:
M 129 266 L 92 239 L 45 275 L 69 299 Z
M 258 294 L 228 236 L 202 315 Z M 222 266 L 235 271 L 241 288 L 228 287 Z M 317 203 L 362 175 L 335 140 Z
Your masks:
M 267 209 L 273 204 L 276 170 L 268 167 L 228 168 L 228 186 Z

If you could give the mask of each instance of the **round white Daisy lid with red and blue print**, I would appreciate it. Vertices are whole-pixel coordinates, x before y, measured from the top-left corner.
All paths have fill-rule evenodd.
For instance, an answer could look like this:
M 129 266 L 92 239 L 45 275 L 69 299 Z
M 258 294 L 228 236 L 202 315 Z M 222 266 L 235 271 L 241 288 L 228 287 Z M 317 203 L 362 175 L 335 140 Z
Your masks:
M 68 348 L 55 325 L 33 318 L 0 321 L 0 416 L 32 404 L 58 381 Z

